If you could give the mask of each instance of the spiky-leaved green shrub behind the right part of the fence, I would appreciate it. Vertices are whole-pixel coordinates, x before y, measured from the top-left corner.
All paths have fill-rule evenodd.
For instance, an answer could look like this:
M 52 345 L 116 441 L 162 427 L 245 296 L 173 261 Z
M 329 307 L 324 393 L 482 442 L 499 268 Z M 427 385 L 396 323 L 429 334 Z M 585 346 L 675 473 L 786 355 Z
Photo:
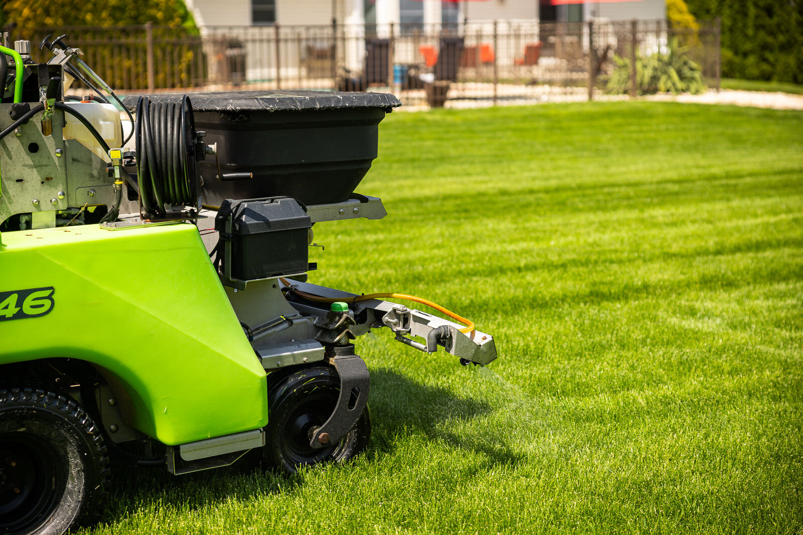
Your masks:
M 630 59 L 613 56 L 613 69 L 605 91 L 613 95 L 630 92 Z M 654 95 L 661 92 L 691 93 L 699 95 L 706 90 L 703 73 L 697 63 L 688 57 L 686 47 L 672 39 L 669 51 L 636 57 L 636 92 L 638 95 Z

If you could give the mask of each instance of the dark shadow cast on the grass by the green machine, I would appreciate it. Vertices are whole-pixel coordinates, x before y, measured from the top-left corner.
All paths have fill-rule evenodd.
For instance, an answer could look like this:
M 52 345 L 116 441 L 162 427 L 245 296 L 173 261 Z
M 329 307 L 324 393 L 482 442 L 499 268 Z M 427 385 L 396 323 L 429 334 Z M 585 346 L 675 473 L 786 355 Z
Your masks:
M 369 463 L 381 462 L 392 454 L 399 436 L 420 433 L 432 441 L 445 442 L 467 452 L 481 452 L 497 464 L 517 464 L 520 459 L 503 448 L 483 444 L 482 437 L 463 436 L 450 429 L 489 414 L 493 409 L 483 401 L 462 398 L 442 387 L 416 383 L 387 368 L 371 370 L 369 399 L 373 436 L 363 454 Z M 447 425 L 444 425 L 447 424 Z M 114 462 L 109 500 L 102 522 L 113 525 L 137 509 L 200 509 L 235 498 L 247 501 L 263 494 L 288 494 L 304 485 L 304 474 L 288 476 L 261 467 L 259 454 L 249 452 L 228 468 L 173 476 L 164 468 L 143 470 Z M 321 468 L 312 468 L 312 470 Z M 324 468 L 325 469 L 325 468 Z

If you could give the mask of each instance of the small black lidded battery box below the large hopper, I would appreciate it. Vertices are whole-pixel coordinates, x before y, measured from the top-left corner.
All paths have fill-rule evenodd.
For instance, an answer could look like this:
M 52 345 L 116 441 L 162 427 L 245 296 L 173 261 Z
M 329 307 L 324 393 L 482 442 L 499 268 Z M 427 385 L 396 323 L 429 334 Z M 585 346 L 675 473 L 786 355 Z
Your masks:
M 310 227 L 304 205 L 291 197 L 222 201 L 214 229 L 220 233 L 223 274 L 253 281 L 304 273 Z

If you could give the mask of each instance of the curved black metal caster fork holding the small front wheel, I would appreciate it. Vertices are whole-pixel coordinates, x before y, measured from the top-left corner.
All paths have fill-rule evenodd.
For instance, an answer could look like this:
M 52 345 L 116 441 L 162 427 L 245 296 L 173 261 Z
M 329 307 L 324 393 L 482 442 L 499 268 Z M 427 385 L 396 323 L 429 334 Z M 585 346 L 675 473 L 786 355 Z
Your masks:
M 365 361 L 360 355 L 354 355 L 354 345 L 336 346 L 332 352 L 328 362 L 340 376 L 340 395 L 329 419 L 320 428 L 313 428 L 309 443 L 312 448 L 325 448 L 340 442 L 357 424 L 368 403 L 371 379 Z

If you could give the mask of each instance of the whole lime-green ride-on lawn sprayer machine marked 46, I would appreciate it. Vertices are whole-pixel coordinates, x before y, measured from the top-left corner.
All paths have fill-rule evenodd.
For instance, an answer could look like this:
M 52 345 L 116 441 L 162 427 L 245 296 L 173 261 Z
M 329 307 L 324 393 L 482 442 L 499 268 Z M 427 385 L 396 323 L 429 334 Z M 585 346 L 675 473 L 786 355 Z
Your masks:
M 92 524 L 110 457 L 176 475 L 251 450 L 285 472 L 352 458 L 372 329 L 496 358 L 426 299 L 307 282 L 313 225 L 385 217 L 354 189 L 395 97 L 121 100 L 63 39 L 47 63 L 26 41 L 0 55 L 0 533 Z

